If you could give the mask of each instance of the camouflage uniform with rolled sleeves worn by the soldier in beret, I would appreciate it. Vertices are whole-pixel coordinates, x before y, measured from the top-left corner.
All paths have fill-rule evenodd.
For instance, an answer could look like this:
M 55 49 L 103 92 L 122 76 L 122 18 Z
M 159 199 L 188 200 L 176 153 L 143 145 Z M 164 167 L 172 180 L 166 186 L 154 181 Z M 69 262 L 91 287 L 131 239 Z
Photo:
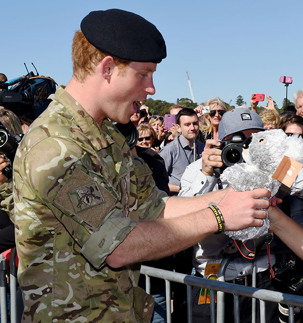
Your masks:
M 23 322 L 149 322 L 140 264 L 112 269 L 105 259 L 166 199 L 116 128 L 100 129 L 59 87 L 14 163 Z

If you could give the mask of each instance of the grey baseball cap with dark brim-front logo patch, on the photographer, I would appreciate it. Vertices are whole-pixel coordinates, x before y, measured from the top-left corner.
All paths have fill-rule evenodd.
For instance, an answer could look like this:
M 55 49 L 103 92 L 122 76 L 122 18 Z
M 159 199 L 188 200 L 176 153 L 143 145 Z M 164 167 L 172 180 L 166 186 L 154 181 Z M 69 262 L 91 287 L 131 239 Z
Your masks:
M 263 122 L 260 116 L 254 111 L 246 108 L 236 108 L 227 111 L 219 123 L 219 140 L 235 132 L 248 129 L 266 130 L 263 128 Z

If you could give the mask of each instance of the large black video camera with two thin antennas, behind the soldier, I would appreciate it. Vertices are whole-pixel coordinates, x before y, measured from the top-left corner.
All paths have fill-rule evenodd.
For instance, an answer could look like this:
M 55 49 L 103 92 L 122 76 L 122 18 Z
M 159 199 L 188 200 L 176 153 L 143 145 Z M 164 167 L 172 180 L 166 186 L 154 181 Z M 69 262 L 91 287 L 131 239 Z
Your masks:
M 37 69 L 36 73 L 35 75 L 31 71 L 12 80 L 0 82 L 0 105 L 18 116 L 26 116 L 31 120 L 41 115 L 50 102 L 48 96 L 55 93 L 57 83 L 50 77 L 40 76 Z

